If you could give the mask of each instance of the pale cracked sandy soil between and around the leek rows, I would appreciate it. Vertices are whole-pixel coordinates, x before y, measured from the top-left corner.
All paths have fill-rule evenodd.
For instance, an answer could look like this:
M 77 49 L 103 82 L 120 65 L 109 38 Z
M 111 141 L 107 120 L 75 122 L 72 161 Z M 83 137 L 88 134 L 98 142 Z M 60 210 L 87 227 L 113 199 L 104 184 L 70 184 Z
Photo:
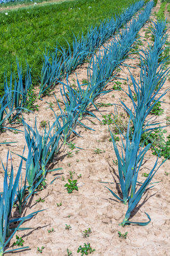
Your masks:
M 154 11 L 158 11 L 160 3 L 157 4 Z M 153 13 L 154 13 L 153 11 Z M 152 17 L 154 18 L 154 17 Z M 140 36 L 145 36 L 145 29 L 150 25 L 147 23 L 140 31 Z M 139 60 L 128 60 L 126 63 L 136 67 Z M 81 66 L 76 70 L 79 81 L 87 79 L 87 67 L 88 63 Z M 140 69 L 131 69 L 134 77 L 138 79 Z M 127 68 L 124 71 L 119 72 L 119 77 L 126 79 L 129 72 Z M 70 75 L 70 83 L 74 83 L 76 80 L 75 73 Z M 128 91 L 127 84 L 122 82 L 122 88 Z M 170 83 L 167 80 L 164 85 L 164 89 L 169 87 Z M 108 83 L 107 89 L 112 89 L 113 83 Z M 114 94 L 115 97 L 112 97 Z M 57 98 L 62 99 L 60 96 L 59 85 L 55 88 L 55 95 Z M 169 96 L 170 93 L 164 97 L 165 104 L 162 104 L 164 108 L 164 115 L 158 118 L 162 122 L 166 123 L 166 117 L 170 117 L 169 110 Z M 121 98 L 122 97 L 122 98 Z M 118 104 L 119 100 L 123 100 L 124 103 L 131 106 L 131 101 L 125 93 L 113 90 L 106 96 L 100 97 L 98 102 L 102 103 L 114 103 Z M 37 116 L 38 122 L 42 120 L 49 120 L 53 122 L 53 113 L 47 109 L 50 101 L 55 104 L 53 110 L 59 113 L 58 106 L 54 96 L 44 97 L 43 101 L 37 101 L 39 105 L 39 111 L 36 113 L 25 114 L 24 118 L 29 124 L 34 124 L 35 117 Z M 101 117 L 107 113 L 114 113 L 114 106 L 108 106 L 100 108 L 100 113 L 95 111 L 91 107 L 91 111 L 96 114 L 100 120 Z M 119 115 L 123 113 L 122 120 L 126 124 L 128 117 L 121 108 L 118 108 Z M 119 116 L 120 117 L 120 116 Z M 95 122 L 92 123 L 92 122 Z M 113 164 L 113 160 L 116 160 L 112 142 L 109 142 L 110 134 L 108 132 L 107 125 L 101 125 L 95 118 L 86 118 L 83 120 L 84 124 L 89 125 L 95 129 L 95 131 L 85 131 L 84 128 L 77 127 L 76 131 L 81 134 L 82 137 L 72 136 L 70 139 L 76 146 L 84 148 L 74 157 L 68 158 L 67 151 L 70 149 L 67 146 L 63 146 L 62 150 L 56 155 L 52 167 L 62 167 L 63 170 L 47 175 L 47 187 L 38 192 L 37 195 L 31 198 L 29 204 L 24 209 L 23 214 L 27 215 L 33 211 L 46 209 L 45 211 L 38 213 L 36 217 L 32 218 L 29 222 L 25 222 L 22 227 L 32 227 L 32 231 L 20 231 L 17 232 L 18 236 L 22 236 L 25 240 L 24 246 L 30 246 L 31 250 L 25 252 L 18 252 L 16 255 L 38 255 L 37 246 L 44 246 L 42 255 L 67 255 L 67 248 L 72 251 L 72 255 L 81 255 L 77 253 L 77 248 L 84 243 L 90 243 L 92 248 L 96 251 L 93 252 L 94 256 L 112 256 L 112 255 L 126 255 L 126 256 L 147 256 L 147 255 L 170 255 L 170 192 L 169 192 L 169 180 L 168 176 L 164 175 L 164 172 L 169 172 L 170 160 L 160 167 L 157 174 L 154 176 L 153 181 L 160 181 L 154 188 L 148 191 L 141 199 L 138 206 L 133 211 L 131 221 L 145 222 L 147 217 L 145 211 L 150 215 L 152 221 L 145 227 L 138 225 L 129 225 L 126 227 L 120 227 L 119 224 L 124 218 L 127 206 L 119 203 L 107 188 L 104 187 L 100 181 L 112 182 L 107 184 L 109 188 L 117 192 L 117 186 L 115 182 L 119 182 L 117 177 L 118 168 Z M 23 130 L 22 125 L 18 125 L 18 129 Z M 169 134 L 169 127 L 167 134 Z M 25 138 L 23 133 L 14 134 L 13 132 L 6 131 L 1 134 L 1 141 L 18 141 L 16 144 L 1 146 L 0 156 L 3 162 L 6 162 L 6 155 L 8 149 L 15 153 L 22 153 L 23 146 L 25 145 Z M 98 140 L 100 140 L 98 142 Z M 94 150 L 100 148 L 105 150 L 105 153 L 96 155 Z M 25 156 L 27 157 L 27 150 L 25 150 Z M 20 158 L 12 154 L 13 165 L 15 170 L 19 166 Z M 145 163 L 141 167 L 139 174 L 139 180 L 142 181 L 145 178 L 141 177 L 142 173 L 148 173 L 152 166 L 154 166 L 156 157 L 152 155 L 152 152 L 148 152 Z M 77 162 L 76 160 L 79 160 Z M 71 164 L 70 167 L 68 164 Z M 3 178 L 3 170 L 1 171 L 1 181 Z M 64 188 L 65 183 L 69 178 L 69 171 L 74 171 L 74 179 L 77 179 L 77 174 L 82 174 L 82 178 L 78 180 L 79 191 L 74 191 L 72 194 L 67 194 L 67 190 Z M 24 169 L 23 169 L 24 172 Z M 50 185 L 51 180 L 55 176 L 60 176 Z M 62 176 L 65 181 L 62 181 Z M 1 183 L 2 184 L 2 183 Z M 44 203 L 36 203 L 36 200 L 41 197 L 45 199 Z M 57 207 L 56 203 L 62 203 L 62 206 Z M 18 211 L 15 210 L 13 217 L 18 217 Z M 65 224 L 70 225 L 72 229 L 69 231 L 65 229 Z M 49 229 L 55 229 L 55 232 L 48 233 Z M 92 233 L 89 238 L 83 238 L 81 232 L 85 229 L 91 228 Z M 118 237 L 117 232 L 128 232 L 127 239 Z M 15 241 L 15 238 L 11 240 L 10 246 Z M 9 254 L 10 255 L 10 254 Z

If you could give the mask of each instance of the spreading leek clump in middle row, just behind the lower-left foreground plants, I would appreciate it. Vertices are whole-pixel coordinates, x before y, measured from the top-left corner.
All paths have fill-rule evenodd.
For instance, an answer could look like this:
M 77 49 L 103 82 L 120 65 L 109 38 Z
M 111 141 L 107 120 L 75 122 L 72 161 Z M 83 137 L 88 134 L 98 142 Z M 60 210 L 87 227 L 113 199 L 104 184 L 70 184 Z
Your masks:
M 81 122 L 83 115 L 96 117 L 87 108 L 89 104 L 93 104 L 93 106 L 95 106 L 95 103 L 93 103 L 93 100 L 95 99 L 95 97 L 99 96 L 99 94 L 101 95 L 101 92 L 99 92 L 98 94 L 93 94 L 93 90 L 95 89 L 95 86 L 93 87 L 93 89 L 91 89 L 91 85 L 89 83 L 81 85 L 78 79 L 77 79 L 77 90 L 72 89 L 68 81 L 68 76 L 67 76 L 67 84 L 63 82 L 60 82 L 60 83 L 63 84 L 63 91 L 62 89 L 60 89 L 60 92 L 62 94 L 63 102 L 65 104 L 65 111 L 62 111 L 62 108 L 60 107 L 59 103 L 58 103 L 58 106 L 61 111 L 59 118 L 62 118 L 63 125 L 67 123 L 67 125 L 65 126 L 65 129 L 63 129 L 63 142 L 65 144 L 67 142 L 67 139 L 72 134 L 72 132 L 77 134 L 77 132 L 75 132 L 75 127 L 77 124 L 86 127 L 86 125 L 82 124 Z M 96 86 L 98 86 L 98 84 Z M 86 87 L 86 89 L 84 89 L 84 87 Z M 65 89 L 67 89 L 67 92 Z M 106 92 L 102 92 L 102 94 L 105 94 L 107 92 L 110 92 L 110 90 Z M 91 99 L 92 94 L 93 94 L 93 99 Z M 96 110 L 98 109 L 96 108 Z M 58 118 L 56 114 L 55 114 L 55 117 Z M 59 127 L 60 127 L 60 124 L 58 126 L 58 129 Z M 89 127 L 86 127 L 86 128 L 91 129 Z

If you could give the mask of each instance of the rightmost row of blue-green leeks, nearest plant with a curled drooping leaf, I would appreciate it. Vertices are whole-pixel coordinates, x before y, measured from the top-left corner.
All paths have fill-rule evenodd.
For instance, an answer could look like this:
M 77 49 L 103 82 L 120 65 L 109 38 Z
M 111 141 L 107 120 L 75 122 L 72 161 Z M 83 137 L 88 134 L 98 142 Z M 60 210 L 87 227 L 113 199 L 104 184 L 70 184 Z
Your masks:
M 159 127 L 155 127 L 155 125 L 158 124 L 150 124 L 146 121 L 146 119 L 154 108 L 155 104 L 160 101 L 160 99 L 164 97 L 169 90 L 167 89 L 162 94 L 160 94 L 160 89 L 162 89 L 166 81 L 167 74 L 169 72 L 168 69 L 164 69 L 167 59 L 159 61 L 160 55 L 164 51 L 164 43 L 167 38 L 166 34 L 164 34 L 166 24 L 162 22 L 162 27 L 164 27 L 164 29 L 162 29 L 162 38 L 158 36 L 161 30 L 160 27 L 161 25 L 159 22 L 159 25 L 155 25 L 155 29 L 152 30 L 155 37 L 154 46 L 148 45 L 148 49 L 142 50 L 143 54 L 140 55 L 140 82 L 136 82 L 134 77 L 131 75 L 131 80 L 133 83 L 134 92 L 137 97 L 137 102 L 135 103 L 133 99 L 133 92 L 129 85 L 129 93 L 126 94 L 133 102 L 133 108 L 130 110 L 128 106 L 126 106 L 126 104 L 121 101 L 123 108 L 128 112 L 130 117 L 127 134 L 122 134 L 126 142 L 124 143 L 124 141 L 122 140 L 121 153 L 119 153 L 117 144 L 114 140 L 114 136 L 111 132 L 112 141 L 114 143 L 114 150 L 118 160 L 119 180 L 121 185 L 122 198 L 118 197 L 109 188 L 108 189 L 117 199 L 122 201 L 122 203 L 128 203 L 128 211 L 126 212 L 126 216 L 121 225 L 126 225 L 130 223 L 147 225 L 150 222 L 150 217 L 148 214 L 147 217 L 149 218 L 149 221 L 145 223 L 129 222 L 128 219 L 136 204 L 139 203 L 141 196 L 147 190 L 147 186 L 157 172 L 157 169 L 159 169 L 159 167 L 164 163 L 162 162 L 162 164 L 157 167 L 157 158 L 154 167 L 150 171 L 145 182 L 138 183 L 138 172 L 140 171 L 141 164 L 143 163 L 143 158 L 148 152 L 150 146 L 152 146 L 152 144 L 150 143 L 144 147 L 145 141 L 141 145 L 141 135 L 144 132 L 152 131 L 153 129 L 159 129 Z M 133 132 L 130 129 L 131 120 L 133 121 Z M 131 138 L 129 137 L 129 135 L 131 135 Z M 140 185 L 139 189 L 137 189 L 137 185 Z

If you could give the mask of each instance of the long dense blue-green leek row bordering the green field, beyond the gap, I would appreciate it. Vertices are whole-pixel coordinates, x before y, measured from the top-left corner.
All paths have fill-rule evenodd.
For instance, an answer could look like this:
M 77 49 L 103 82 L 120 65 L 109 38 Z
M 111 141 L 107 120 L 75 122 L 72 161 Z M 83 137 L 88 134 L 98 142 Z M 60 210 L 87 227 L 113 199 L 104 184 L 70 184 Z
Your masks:
M 132 4 L 122 12 L 119 17 L 112 17 L 110 20 L 101 22 L 99 27 L 89 27 L 86 35 L 82 34 L 77 38 L 74 36 L 72 48 L 68 43 L 68 50 L 56 46 L 55 52 L 47 55 L 44 53 L 44 61 L 41 70 L 39 97 L 61 80 L 64 75 L 70 74 L 81 65 L 100 45 L 103 45 L 108 38 L 114 36 L 115 32 L 128 22 L 144 5 L 144 1 Z M 72 50 L 73 49 L 73 50 Z

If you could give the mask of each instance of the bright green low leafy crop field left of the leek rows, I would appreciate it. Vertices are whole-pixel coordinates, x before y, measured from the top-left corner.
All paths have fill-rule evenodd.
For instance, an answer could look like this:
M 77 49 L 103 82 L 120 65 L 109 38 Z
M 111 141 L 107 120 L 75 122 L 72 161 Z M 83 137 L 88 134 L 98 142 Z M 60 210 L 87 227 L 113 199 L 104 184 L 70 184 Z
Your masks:
M 122 8 L 134 0 L 81 0 L 67 3 L 32 5 L 8 11 L 1 11 L 0 23 L 0 93 L 3 94 L 4 71 L 16 73 L 16 58 L 22 67 L 25 59 L 32 67 L 32 82 L 38 83 L 42 67 L 42 52 L 53 50 L 56 41 L 67 46 L 73 33 L 77 36 L 86 32 L 89 25 L 99 25 L 100 20 L 121 13 Z M 6 15 L 5 13 L 8 13 Z M 12 64 L 12 68 L 11 68 Z

